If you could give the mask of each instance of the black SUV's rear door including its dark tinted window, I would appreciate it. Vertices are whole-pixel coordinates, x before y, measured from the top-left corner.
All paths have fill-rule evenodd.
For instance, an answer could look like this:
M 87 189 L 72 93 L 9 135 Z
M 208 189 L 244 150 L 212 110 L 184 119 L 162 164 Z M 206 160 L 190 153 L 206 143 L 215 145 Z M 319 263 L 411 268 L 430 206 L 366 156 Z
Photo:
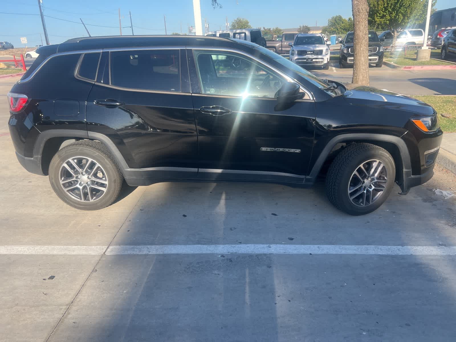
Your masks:
M 196 177 L 198 146 L 192 96 L 179 92 L 184 85 L 179 81 L 179 50 L 115 53 L 110 52 L 111 63 L 104 63 L 114 69 L 111 73 L 102 71 L 111 75 L 110 80 L 95 83 L 89 94 L 88 130 L 113 140 L 130 168 L 192 168 L 182 171 L 186 177 Z M 188 88 L 187 63 L 183 69 Z M 118 86 L 106 84 L 113 81 Z M 153 170 L 150 176 L 154 176 Z

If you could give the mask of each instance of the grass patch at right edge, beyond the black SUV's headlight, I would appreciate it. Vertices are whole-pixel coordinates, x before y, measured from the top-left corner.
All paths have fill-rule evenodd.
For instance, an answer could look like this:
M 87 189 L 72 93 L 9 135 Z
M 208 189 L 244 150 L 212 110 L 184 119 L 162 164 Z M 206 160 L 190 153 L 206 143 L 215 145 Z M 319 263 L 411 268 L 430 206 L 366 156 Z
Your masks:
M 444 132 L 456 132 L 456 96 L 413 96 L 414 98 L 430 104 L 439 116 L 440 127 Z M 443 117 L 442 114 L 449 118 Z

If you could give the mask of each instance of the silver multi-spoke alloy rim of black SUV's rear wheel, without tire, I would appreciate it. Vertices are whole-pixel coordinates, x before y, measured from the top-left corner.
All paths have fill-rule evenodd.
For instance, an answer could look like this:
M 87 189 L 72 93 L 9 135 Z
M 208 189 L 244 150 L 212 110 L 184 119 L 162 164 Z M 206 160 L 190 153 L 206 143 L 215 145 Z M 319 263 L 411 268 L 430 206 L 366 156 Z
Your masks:
M 97 201 L 108 189 L 103 167 L 83 156 L 67 159 L 60 168 L 59 180 L 67 195 L 81 202 Z

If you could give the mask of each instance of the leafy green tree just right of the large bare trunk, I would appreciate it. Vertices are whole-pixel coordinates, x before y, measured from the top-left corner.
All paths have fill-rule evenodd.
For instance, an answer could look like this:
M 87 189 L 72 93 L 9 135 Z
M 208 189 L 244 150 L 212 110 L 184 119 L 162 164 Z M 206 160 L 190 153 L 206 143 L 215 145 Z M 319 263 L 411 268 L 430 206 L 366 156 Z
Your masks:
M 393 34 L 391 50 L 394 51 L 400 31 L 410 25 L 410 20 L 423 0 L 368 0 L 369 22 L 378 28 L 388 28 Z M 426 16 L 426 15 L 425 15 Z

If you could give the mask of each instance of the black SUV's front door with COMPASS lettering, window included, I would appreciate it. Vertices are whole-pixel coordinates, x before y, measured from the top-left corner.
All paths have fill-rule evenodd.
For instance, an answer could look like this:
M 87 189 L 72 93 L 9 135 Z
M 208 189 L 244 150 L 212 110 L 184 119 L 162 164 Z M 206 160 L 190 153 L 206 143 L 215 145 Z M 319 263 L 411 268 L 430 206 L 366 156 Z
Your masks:
M 238 62 L 233 65 L 229 57 L 241 59 L 242 67 Z M 193 94 L 200 153 L 198 177 L 254 179 L 255 175 L 272 180 L 271 172 L 304 176 L 313 143 L 315 103 L 299 100 L 278 104 L 274 94 L 285 80 L 249 57 L 196 51 L 194 60 L 196 68 L 190 70 L 196 70 L 197 75 L 190 78 L 201 82 L 202 89 L 202 93 Z M 219 60 L 230 62 L 216 66 Z M 239 94 L 243 96 L 236 96 Z M 304 181 L 292 175 L 276 176 Z

